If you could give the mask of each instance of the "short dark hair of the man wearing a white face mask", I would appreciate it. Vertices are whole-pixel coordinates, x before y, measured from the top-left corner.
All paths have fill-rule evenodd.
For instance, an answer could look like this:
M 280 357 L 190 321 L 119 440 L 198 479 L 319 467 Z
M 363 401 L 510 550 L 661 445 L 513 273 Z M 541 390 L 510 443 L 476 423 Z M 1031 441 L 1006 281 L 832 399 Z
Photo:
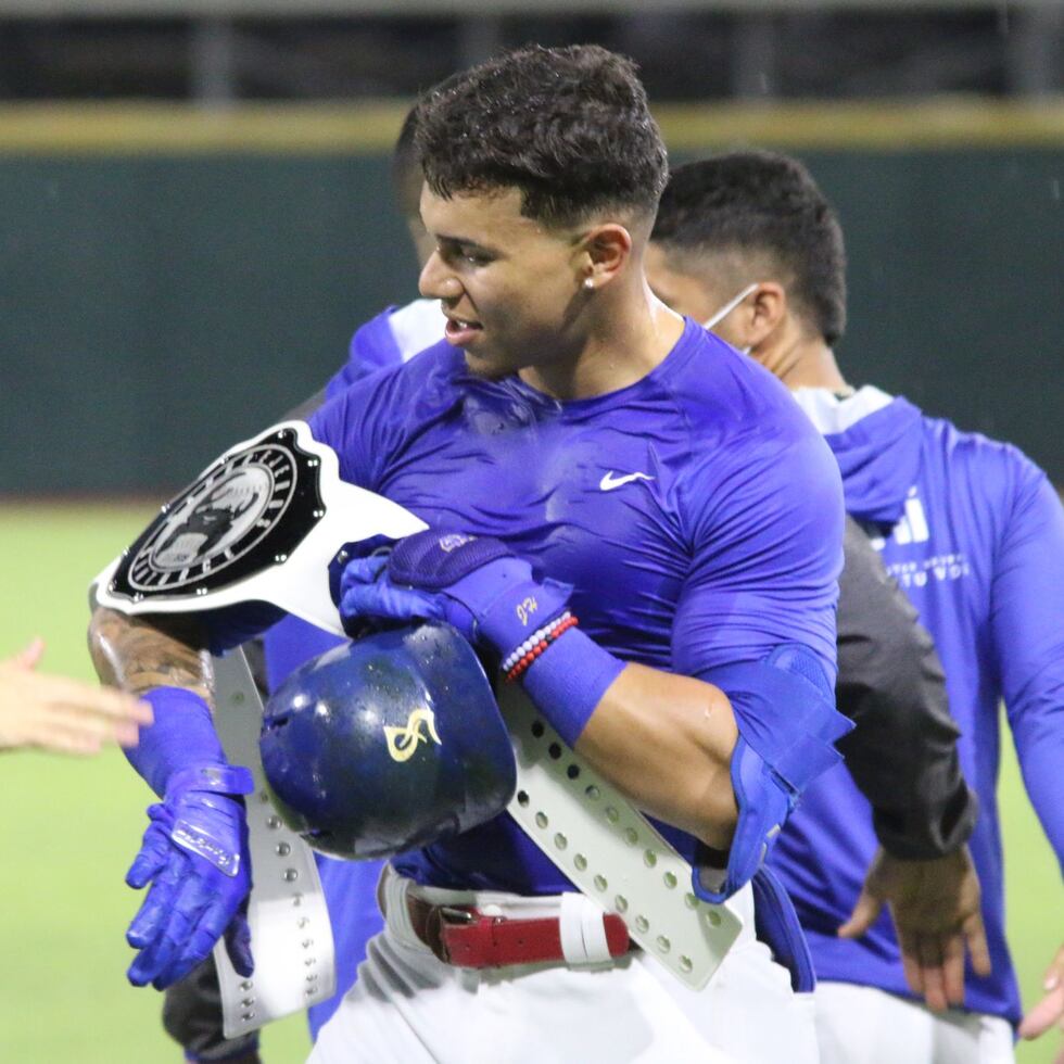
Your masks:
M 677 166 L 650 239 L 667 253 L 768 254 L 789 274 L 791 296 L 828 344 L 846 331 L 843 229 L 796 159 L 731 152 Z

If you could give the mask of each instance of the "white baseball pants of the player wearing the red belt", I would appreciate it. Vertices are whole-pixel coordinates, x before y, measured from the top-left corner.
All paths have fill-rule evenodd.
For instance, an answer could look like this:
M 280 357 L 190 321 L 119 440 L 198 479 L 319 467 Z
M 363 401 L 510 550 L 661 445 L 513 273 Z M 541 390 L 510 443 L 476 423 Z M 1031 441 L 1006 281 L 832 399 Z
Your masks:
M 753 937 L 749 887 L 736 901 L 745 928 L 700 992 L 639 951 L 596 970 L 457 968 L 390 914 L 309 1064 L 816 1064 L 811 997 Z

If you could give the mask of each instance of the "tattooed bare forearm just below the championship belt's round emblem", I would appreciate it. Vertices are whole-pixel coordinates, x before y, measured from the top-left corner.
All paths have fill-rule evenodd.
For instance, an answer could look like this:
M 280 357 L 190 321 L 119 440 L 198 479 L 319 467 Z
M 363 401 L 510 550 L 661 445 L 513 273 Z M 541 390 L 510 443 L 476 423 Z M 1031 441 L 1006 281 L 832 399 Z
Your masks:
M 152 687 L 188 687 L 210 701 L 211 656 L 201 646 L 199 629 L 189 620 L 130 617 L 101 607 L 89 625 L 97 675 L 137 695 Z

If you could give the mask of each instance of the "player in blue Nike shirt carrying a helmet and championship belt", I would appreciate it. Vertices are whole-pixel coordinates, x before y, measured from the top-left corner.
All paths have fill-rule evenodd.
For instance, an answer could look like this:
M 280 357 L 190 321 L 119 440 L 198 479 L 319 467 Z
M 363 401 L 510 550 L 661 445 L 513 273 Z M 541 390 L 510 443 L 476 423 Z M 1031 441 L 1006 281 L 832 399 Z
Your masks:
M 759 862 L 848 727 L 832 700 L 837 468 L 769 375 L 650 296 L 666 156 L 630 64 L 593 47 L 505 55 L 432 94 L 417 143 L 435 242 L 421 290 L 446 342 L 311 425 L 344 479 L 430 532 L 352 562 L 342 611 L 445 616 L 658 819 L 692 889 L 747 919 L 698 993 L 623 943 L 588 972 L 563 951 L 529 963 L 517 934 L 487 970 L 456 967 L 431 933 L 456 899 L 515 922 L 530 897 L 537 921 L 571 909 L 571 884 L 501 816 L 394 862 L 385 930 L 312 1059 L 814 1060 L 791 979 L 753 937 L 749 883 L 800 950 Z M 152 884 L 129 936 L 141 983 L 178 977 L 223 930 L 250 966 L 245 781 L 213 742 L 197 654 L 229 633 L 207 620 L 93 621 L 98 667 L 156 712 L 135 759 L 163 797 L 130 876 Z M 232 876 L 174 840 L 204 788 Z

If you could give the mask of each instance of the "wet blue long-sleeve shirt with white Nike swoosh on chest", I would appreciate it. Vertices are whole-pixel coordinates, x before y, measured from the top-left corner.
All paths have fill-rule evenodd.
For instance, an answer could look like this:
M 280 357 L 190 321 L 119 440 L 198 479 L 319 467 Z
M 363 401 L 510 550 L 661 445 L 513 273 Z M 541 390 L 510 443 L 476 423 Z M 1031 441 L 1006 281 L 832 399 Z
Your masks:
M 345 480 L 572 584 L 584 631 L 625 660 L 705 676 L 800 643 L 834 680 L 837 466 L 786 390 L 693 321 L 607 395 L 559 403 L 484 381 L 441 343 L 311 426 Z M 443 887 L 572 889 L 506 814 L 394 863 Z

